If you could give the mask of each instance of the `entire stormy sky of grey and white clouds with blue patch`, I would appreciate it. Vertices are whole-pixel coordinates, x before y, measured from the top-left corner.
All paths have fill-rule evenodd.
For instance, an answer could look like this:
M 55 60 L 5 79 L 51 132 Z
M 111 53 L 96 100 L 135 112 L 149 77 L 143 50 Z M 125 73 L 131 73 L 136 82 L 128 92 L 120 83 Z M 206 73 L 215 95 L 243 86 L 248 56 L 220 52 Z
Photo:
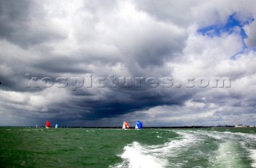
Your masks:
M 256 125 L 254 2 L 0 0 L 0 125 Z

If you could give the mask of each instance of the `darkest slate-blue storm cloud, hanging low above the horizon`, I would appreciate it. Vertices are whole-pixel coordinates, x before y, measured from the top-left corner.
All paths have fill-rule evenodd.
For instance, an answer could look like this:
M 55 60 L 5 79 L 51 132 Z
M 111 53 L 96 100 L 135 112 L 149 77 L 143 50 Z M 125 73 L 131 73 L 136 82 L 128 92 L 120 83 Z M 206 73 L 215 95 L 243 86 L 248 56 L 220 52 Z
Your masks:
M 90 88 L 88 88 L 90 89 Z M 76 91 L 74 100 L 69 104 L 54 104 L 50 107 L 49 112 L 54 114 L 54 118 L 62 118 L 66 121 L 77 115 L 76 118 L 81 120 L 97 120 L 102 118 L 113 118 L 119 115 L 129 114 L 133 111 L 144 110 L 159 105 L 181 105 L 190 95 L 170 96 L 160 94 L 158 89 L 147 89 L 144 92 L 123 92 L 118 89 L 104 95 L 103 99 L 94 100 L 94 93 Z M 121 96 L 120 96 L 121 95 Z M 79 96 L 79 97 L 78 97 Z

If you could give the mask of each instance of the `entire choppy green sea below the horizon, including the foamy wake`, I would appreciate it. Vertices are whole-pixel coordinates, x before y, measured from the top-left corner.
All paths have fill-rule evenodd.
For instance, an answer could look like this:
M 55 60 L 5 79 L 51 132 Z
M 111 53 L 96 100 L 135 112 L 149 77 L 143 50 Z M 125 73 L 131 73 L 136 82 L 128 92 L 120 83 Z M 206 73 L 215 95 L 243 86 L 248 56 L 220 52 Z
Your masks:
M 0 167 L 256 167 L 256 128 L 0 127 Z

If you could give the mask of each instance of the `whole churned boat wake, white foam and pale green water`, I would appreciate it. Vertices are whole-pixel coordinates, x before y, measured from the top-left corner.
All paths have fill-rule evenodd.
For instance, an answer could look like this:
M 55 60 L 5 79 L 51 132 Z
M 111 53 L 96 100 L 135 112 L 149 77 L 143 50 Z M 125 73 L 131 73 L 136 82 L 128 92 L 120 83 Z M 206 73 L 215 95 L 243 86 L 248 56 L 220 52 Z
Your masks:
M 110 167 L 256 167 L 256 135 L 218 131 L 174 131 L 161 145 L 133 142 L 121 163 Z

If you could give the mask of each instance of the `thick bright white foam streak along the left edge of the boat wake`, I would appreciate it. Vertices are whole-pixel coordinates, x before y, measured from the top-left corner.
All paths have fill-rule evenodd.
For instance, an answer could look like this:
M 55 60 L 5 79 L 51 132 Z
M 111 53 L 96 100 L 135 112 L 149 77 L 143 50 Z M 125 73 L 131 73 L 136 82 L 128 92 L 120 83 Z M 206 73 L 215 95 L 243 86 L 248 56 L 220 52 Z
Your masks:
M 127 145 L 120 155 L 124 161 L 110 167 L 165 167 L 168 164 L 168 157 L 180 153 L 182 149 L 196 142 L 195 137 L 190 133 L 177 133 L 181 135 L 180 139 L 171 139 L 170 142 L 162 145 L 143 146 L 138 142 Z

